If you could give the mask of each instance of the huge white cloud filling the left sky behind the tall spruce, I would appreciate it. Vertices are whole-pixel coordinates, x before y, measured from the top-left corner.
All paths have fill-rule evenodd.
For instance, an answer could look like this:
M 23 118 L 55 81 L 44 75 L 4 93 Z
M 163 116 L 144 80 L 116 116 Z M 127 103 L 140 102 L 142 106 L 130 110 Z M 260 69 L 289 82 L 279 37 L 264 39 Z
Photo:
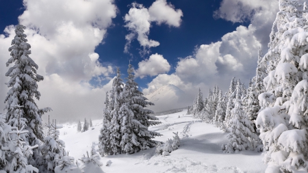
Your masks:
M 27 27 L 30 56 L 39 66 L 38 74 L 44 76 L 44 81 L 38 83 L 42 94 L 38 105 L 51 107 L 53 118 L 68 120 L 101 115 L 108 87 L 93 88 L 89 81 L 111 79 L 114 72 L 112 66 L 101 64 L 99 55 L 94 53 L 116 16 L 113 2 L 24 1 L 25 11 L 18 19 Z M 0 35 L 1 83 L 8 81 L 3 77 L 8 68 L 2 66 L 10 57 L 8 47 L 14 36 L 14 26 L 5 28 L 5 36 Z M 1 85 L 1 98 L 7 90 Z M 4 104 L 0 104 L 0 108 L 3 107 Z

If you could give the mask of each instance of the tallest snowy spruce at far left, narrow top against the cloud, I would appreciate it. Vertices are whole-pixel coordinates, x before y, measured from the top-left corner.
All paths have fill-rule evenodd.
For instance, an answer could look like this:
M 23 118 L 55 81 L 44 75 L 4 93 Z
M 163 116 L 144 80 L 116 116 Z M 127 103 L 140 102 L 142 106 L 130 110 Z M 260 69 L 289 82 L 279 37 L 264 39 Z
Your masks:
M 23 25 L 16 25 L 16 36 L 12 40 L 12 46 L 9 48 L 10 59 L 6 63 L 6 66 L 14 64 L 9 68 L 5 76 L 10 77 L 10 81 L 6 83 L 10 90 L 5 97 L 5 109 L 6 121 L 12 127 L 16 127 L 16 114 L 11 109 L 13 105 L 21 105 L 20 118 L 25 118 L 25 131 L 28 131 L 28 135 L 25 135 L 25 142 L 27 145 L 34 146 L 40 145 L 44 140 L 44 133 L 42 130 L 42 115 L 50 111 L 49 107 L 44 109 L 38 109 L 34 101 L 40 99 L 40 92 L 38 92 L 38 81 L 42 81 L 43 77 L 36 74 L 38 65 L 29 57 L 31 51 L 30 44 L 27 43 L 26 35 L 24 33 L 25 27 Z M 34 150 L 33 159 L 38 159 L 39 151 Z M 36 163 L 33 163 L 36 165 Z

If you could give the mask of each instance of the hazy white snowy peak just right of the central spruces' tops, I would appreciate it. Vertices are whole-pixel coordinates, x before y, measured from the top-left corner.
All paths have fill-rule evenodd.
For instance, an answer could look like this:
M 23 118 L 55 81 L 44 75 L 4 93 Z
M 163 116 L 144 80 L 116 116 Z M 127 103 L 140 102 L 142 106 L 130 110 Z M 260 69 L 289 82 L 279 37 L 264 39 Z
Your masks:
M 154 106 L 149 107 L 149 109 L 155 112 L 167 111 L 170 109 L 177 109 L 187 106 L 184 103 L 185 92 L 177 88 L 176 85 L 172 84 L 164 85 L 145 97 L 155 104 Z

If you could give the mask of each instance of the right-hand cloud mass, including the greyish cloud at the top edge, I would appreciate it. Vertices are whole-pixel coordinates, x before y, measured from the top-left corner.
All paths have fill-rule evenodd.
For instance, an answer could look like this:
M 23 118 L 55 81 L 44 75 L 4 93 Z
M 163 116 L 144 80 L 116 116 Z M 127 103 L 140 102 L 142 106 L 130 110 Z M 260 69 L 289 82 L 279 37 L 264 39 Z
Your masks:
M 194 98 L 198 88 L 207 93 L 214 85 L 227 90 L 232 77 L 248 82 L 255 75 L 257 50 L 261 46 L 267 51 L 272 23 L 279 10 L 278 0 L 222 0 L 214 17 L 233 23 L 250 22 L 248 27 L 240 26 L 225 34 L 221 40 L 198 46 L 194 54 L 179 59 L 175 73 L 159 75 L 144 91 L 153 91 L 162 85 L 179 83 L 179 88 L 190 92 Z M 176 85 L 176 84 L 175 84 Z M 191 87 L 191 88 L 190 88 Z M 190 88 L 186 90 L 186 88 Z M 190 101 L 192 103 L 192 100 Z

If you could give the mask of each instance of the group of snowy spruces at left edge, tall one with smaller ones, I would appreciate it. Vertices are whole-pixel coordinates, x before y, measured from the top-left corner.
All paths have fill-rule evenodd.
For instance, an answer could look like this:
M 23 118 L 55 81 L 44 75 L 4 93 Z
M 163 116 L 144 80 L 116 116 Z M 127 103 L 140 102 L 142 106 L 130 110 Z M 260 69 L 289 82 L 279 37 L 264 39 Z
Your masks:
M 35 103 L 34 98 L 40 99 L 37 82 L 43 77 L 36 73 L 38 65 L 29 57 L 31 46 L 24 29 L 16 25 L 11 57 L 6 63 L 12 66 L 5 73 L 10 77 L 5 83 L 10 88 L 5 97 L 6 114 L 0 114 L 0 170 L 56 172 L 68 156 L 55 122 L 47 125 L 47 135 L 43 133 L 42 115 L 51 108 L 38 109 Z

